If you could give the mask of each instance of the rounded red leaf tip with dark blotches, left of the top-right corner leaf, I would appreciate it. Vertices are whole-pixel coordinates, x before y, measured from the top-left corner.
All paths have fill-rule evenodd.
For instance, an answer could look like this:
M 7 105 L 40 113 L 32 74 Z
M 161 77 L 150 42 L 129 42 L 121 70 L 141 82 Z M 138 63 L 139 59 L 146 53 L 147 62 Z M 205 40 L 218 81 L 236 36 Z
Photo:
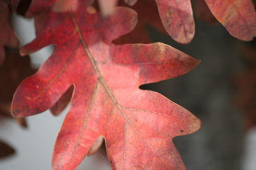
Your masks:
M 124 1 L 132 6 L 137 0 Z M 162 23 L 168 34 L 179 43 L 189 43 L 195 34 L 195 23 L 190 0 L 155 1 Z M 148 8 L 148 6 L 145 5 L 144 8 Z

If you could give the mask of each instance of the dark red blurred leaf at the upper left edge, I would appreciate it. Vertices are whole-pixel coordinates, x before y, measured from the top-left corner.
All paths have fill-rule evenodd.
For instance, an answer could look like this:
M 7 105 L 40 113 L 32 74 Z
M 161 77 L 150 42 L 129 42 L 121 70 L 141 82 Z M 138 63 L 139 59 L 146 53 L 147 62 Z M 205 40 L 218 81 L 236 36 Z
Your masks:
M 19 39 L 15 36 L 10 27 L 10 11 L 4 1 L 0 1 L 0 65 L 4 60 L 4 46 L 16 47 L 19 45 Z

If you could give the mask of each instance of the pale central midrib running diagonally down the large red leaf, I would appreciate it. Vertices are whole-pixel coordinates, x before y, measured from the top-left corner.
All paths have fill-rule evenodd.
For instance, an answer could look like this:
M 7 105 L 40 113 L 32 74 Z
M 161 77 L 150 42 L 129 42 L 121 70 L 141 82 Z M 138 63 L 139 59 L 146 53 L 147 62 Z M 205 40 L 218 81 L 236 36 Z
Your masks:
M 117 100 L 115 99 L 115 96 L 113 96 L 111 90 L 109 89 L 108 85 L 106 84 L 106 82 L 104 81 L 102 74 L 100 73 L 99 67 L 97 67 L 96 61 L 93 59 L 92 57 L 92 53 L 90 52 L 88 46 L 86 45 L 86 43 L 84 42 L 84 38 L 83 35 L 81 33 L 81 30 L 79 29 L 77 22 L 76 22 L 76 18 L 74 17 L 74 14 L 72 13 L 72 11 L 69 12 L 70 13 L 70 17 L 72 18 L 72 22 L 75 26 L 76 32 L 79 36 L 79 39 L 83 45 L 83 48 L 85 50 L 85 52 L 87 53 L 90 62 L 92 62 L 92 66 L 95 69 L 97 75 L 98 75 L 98 80 L 102 83 L 102 85 L 104 86 L 104 88 L 107 90 L 109 96 L 111 97 L 111 99 L 113 100 L 113 103 L 115 103 L 115 105 L 118 107 L 118 110 L 120 110 L 120 112 L 122 113 L 122 115 L 124 115 L 125 117 L 125 121 L 127 121 L 129 123 L 129 125 L 131 125 L 132 129 L 134 130 L 134 132 L 138 135 L 138 137 L 140 138 L 141 142 L 148 148 L 148 150 L 150 150 L 150 152 L 152 152 L 152 154 L 156 157 L 157 161 L 159 162 L 159 164 L 161 164 L 162 166 L 164 166 L 163 162 L 161 162 L 161 160 L 158 159 L 157 155 L 150 149 L 150 147 L 147 145 L 147 143 L 145 143 L 144 139 L 140 136 L 139 132 L 137 131 L 137 129 L 132 125 L 131 121 L 129 120 L 129 118 L 127 117 L 127 115 L 124 113 L 124 110 L 122 109 L 122 107 L 120 106 L 120 104 L 117 102 Z M 126 128 L 125 128 L 126 129 Z M 126 142 L 126 141 L 124 141 Z M 124 147 L 124 153 L 125 153 L 125 147 Z M 124 166 L 125 166 L 125 159 L 124 159 Z M 165 166 L 164 166 L 165 167 Z M 166 168 L 166 167 L 165 167 Z M 167 168 L 166 168 L 167 169 Z

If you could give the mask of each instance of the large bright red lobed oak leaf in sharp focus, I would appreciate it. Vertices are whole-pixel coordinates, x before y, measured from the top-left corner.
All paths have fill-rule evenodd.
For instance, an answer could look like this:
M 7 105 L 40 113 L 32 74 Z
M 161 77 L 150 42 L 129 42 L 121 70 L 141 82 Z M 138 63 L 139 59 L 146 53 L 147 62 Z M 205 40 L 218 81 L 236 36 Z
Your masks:
M 116 8 L 101 18 L 85 8 L 80 4 L 76 11 L 49 13 L 36 39 L 20 50 L 26 54 L 56 45 L 15 92 L 13 115 L 45 111 L 74 85 L 52 169 L 75 169 L 99 136 L 106 140 L 113 169 L 185 169 L 172 138 L 195 132 L 200 120 L 139 86 L 187 73 L 198 60 L 163 43 L 113 45 L 113 39 L 134 28 L 136 13 Z

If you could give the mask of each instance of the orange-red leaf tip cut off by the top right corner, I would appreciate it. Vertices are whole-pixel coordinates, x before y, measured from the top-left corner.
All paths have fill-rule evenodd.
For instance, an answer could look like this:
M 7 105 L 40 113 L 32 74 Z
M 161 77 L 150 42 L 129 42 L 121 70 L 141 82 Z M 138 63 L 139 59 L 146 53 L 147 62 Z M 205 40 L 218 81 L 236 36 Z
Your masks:
M 234 37 L 250 41 L 256 36 L 256 13 L 251 0 L 205 0 L 216 19 Z

